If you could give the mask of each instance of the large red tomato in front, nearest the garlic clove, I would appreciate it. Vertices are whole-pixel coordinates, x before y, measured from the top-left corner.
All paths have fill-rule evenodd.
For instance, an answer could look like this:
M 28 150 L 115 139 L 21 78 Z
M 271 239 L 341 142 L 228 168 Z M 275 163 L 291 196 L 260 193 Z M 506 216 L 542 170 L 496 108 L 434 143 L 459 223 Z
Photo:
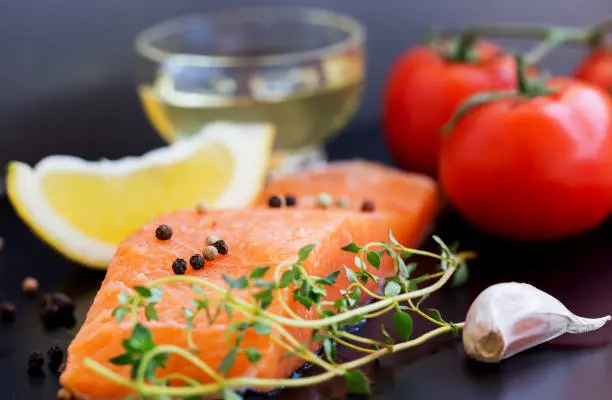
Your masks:
M 440 181 L 485 231 L 523 240 L 572 236 L 612 205 L 612 100 L 569 78 L 556 93 L 468 111 L 444 137 Z

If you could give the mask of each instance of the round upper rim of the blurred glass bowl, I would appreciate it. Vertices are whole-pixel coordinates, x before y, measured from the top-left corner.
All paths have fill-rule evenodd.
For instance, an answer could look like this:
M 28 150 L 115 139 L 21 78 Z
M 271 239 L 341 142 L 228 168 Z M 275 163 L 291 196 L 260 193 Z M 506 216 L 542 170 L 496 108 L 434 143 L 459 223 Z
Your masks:
M 329 45 L 319 47 L 312 50 L 301 50 L 279 54 L 269 54 L 264 56 L 216 56 L 202 55 L 189 53 L 173 53 L 161 50 L 151 44 L 151 42 L 159 37 L 163 37 L 171 32 L 173 28 L 181 22 L 189 20 L 197 20 L 204 18 L 223 18 L 232 17 L 235 14 L 250 15 L 253 12 L 265 13 L 294 13 L 302 16 L 306 23 L 316 23 L 328 27 L 336 27 L 348 33 L 348 36 Z M 141 31 L 134 41 L 134 46 L 138 54 L 142 57 L 156 62 L 163 63 L 168 58 L 176 60 L 181 59 L 181 62 L 202 67 L 232 67 L 246 65 L 282 65 L 289 63 L 298 63 L 301 61 L 313 60 L 321 58 L 323 55 L 337 54 L 353 46 L 361 45 L 365 39 L 365 28 L 363 24 L 355 18 L 332 10 L 323 8 L 311 7 L 291 7 L 291 6 L 251 6 L 251 7 L 234 7 L 225 8 L 216 11 L 189 13 L 177 17 L 162 20 L 149 28 Z

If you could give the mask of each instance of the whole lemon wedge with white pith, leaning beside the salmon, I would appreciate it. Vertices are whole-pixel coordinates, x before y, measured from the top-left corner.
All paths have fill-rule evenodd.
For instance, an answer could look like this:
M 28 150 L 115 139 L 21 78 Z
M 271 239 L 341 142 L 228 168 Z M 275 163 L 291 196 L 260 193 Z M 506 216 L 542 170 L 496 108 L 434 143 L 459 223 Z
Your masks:
M 219 122 L 140 157 L 53 155 L 34 168 L 12 161 L 7 193 L 43 241 L 74 261 L 106 268 L 121 240 L 162 213 L 200 201 L 249 205 L 263 187 L 273 139 L 269 125 Z

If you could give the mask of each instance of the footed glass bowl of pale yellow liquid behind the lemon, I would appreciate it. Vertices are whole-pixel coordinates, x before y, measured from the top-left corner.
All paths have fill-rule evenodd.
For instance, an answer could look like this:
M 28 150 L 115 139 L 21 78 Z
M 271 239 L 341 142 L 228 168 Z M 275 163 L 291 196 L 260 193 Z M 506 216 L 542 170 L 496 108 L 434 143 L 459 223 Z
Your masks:
M 273 170 L 325 159 L 323 145 L 354 115 L 364 33 L 330 11 L 254 7 L 162 22 L 138 36 L 138 92 L 167 141 L 213 121 L 276 127 Z

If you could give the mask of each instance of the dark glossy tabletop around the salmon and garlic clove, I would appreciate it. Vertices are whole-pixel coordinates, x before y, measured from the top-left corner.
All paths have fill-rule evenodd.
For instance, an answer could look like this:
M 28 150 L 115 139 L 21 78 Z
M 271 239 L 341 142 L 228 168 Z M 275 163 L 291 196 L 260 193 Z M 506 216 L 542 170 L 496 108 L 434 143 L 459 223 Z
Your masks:
M 53 399 L 57 375 L 26 373 L 27 355 L 65 347 L 71 331 L 45 330 L 38 305 L 21 292 L 26 276 L 40 280 L 43 291 L 63 291 L 76 300 L 81 319 L 104 276 L 72 264 L 43 245 L 18 220 L 6 199 L 0 200 L 0 293 L 18 308 L 16 321 L 0 326 L 0 398 Z M 599 317 L 612 311 L 612 223 L 573 240 L 549 244 L 518 244 L 484 235 L 452 212 L 440 217 L 436 233 L 459 240 L 462 249 L 479 253 L 471 277 L 461 288 L 443 290 L 428 302 L 447 318 L 463 319 L 471 300 L 486 286 L 524 281 L 548 291 L 581 316 Z M 431 243 L 425 244 L 431 246 Z M 375 332 L 380 320 L 363 332 Z M 417 326 L 417 330 L 424 329 Z M 460 340 L 441 338 L 414 350 L 387 356 L 365 372 L 374 381 L 376 399 L 581 399 L 612 398 L 612 324 L 581 336 L 564 336 L 515 356 L 501 365 L 470 362 Z M 350 357 L 347 352 L 342 356 Z M 342 385 L 283 391 L 279 399 L 343 398 Z M 258 396 L 253 396 L 258 398 Z

